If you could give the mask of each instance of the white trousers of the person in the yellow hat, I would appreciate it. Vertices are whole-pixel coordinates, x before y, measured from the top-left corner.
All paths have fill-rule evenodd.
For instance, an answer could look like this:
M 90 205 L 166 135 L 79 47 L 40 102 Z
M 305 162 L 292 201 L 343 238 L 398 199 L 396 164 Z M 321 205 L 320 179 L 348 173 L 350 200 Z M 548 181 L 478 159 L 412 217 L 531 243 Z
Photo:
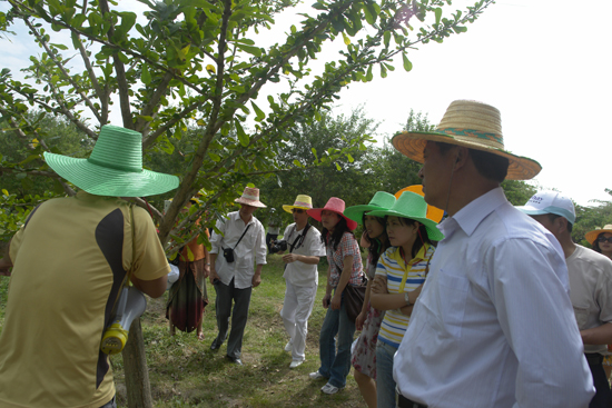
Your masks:
M 285 301 L 280 317 L 285 324 L 285 330 L 289 335 L 293 344 L 292 358 L 294 360 L 304 360 L 306 355 L 306 334 L 308 332 L 308 318 L 313 312 L 317 287 L 315 282 L 312 286 L 294 286 L 286 281 Z

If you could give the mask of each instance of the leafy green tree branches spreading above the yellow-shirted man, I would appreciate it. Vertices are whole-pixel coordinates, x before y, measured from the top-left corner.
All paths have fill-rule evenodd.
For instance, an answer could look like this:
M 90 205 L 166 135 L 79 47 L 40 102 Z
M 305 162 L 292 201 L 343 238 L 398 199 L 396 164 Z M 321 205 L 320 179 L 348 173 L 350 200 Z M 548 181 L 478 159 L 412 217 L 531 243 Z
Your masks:
M 453 12 L 443 10 L 444 0 L 317 0 L 269 47 L 258 33 L 295 0 L 140 0 L 144 19 L 125 11 L 127 3 L 9 0 L 0 12 L 3 38 L 24 28 L 41 52 L 32 52 L 23 78 L 1 70 L 1 122 L 11 138 L 36 139 L 40 149 L 31 151 L 39 160 L 3 156 L 0 168 L 56 178 L 73 193 L 40 160 L 53 150 L 48 115 L 66 118 L 92 143 L 118 103 L 121 125 L 142 133 L 146 153 L 171 153 L 171 140 L 193 130 L 172 205 L 165 216 L 156 212 L 166 242 L 196 191 L 204 192 L 203 206 L 185 225 L 223 210 L 256 175 L 276 171 L 289 129 L 319 120 L 343 87 L 371 81 L 375 69 L 386 77 L 396 56 L 409 71 L 415 46 L 465 31 L 492 0 Z M 335 39 L 343 49 L 329 57 L 324 51 Z M 325 63 L 315 72 L 316 59 Z M 284 91 L 258 98 L 277 82 Z M 349 162 L 367 141 L 356 139 L 318 163 Z

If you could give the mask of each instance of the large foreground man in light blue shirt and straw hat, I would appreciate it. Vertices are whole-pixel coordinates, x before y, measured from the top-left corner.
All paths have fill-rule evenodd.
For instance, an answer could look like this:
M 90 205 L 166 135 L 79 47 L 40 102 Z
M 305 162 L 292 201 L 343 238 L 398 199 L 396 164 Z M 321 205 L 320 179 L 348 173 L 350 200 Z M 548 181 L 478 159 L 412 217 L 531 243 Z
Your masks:
M 398 406 L 586 407 L 594 388 L 563 250 L 500 187 L 540 165 L 505 151 L 500 111 L 474 101 L 392 142 L 423 162 L 425 201 L 448 215 L 395 355 Z

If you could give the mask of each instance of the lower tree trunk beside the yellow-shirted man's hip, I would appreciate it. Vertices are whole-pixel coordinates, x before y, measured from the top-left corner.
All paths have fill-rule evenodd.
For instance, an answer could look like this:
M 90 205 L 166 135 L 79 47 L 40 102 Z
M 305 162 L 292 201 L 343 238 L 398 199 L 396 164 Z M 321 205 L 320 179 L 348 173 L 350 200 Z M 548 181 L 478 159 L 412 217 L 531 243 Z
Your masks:
M 129 408 L 152 408 L 149 370 L 140 318 L 132 321 L 128 342 L 122 351 Z

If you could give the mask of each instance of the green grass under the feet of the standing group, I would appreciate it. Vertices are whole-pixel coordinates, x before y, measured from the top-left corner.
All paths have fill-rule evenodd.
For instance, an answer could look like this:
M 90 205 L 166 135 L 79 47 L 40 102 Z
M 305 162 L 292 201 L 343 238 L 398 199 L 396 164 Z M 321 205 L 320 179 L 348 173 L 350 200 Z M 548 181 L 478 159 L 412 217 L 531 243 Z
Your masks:
M 318 334 L 325 310 L 327 263 L 319 263 L 319 289 L 308 327 L 306 362 L 289 369 L 292 357 L 283 350 L 288 338 L 278 315 L 283 307 L 285 279 L 280 256 L 268 256 L 263 282 L 253 290 L 250 311 L 243 342 L 243 367 L 225 360 L 226 346 L 209 349 L 216 337 L 215 290 L 208 283 L 209 305 L 204 316 L 204 341 L 195 332 L 169 336 L 165 318 L 167 295 L 149 299 L 142 316 L 142 331 L 154 405 L 182 407 L 365 407 L 359 390 L 348 376 L 347 386 L 334 396 L 323 395 L 324 380 L 308 374 L 319 366 Z M 0 325 L 7 301 L 8 278 L 0 278 Z M 122 359 L 111 358 L 119 407 L 126 407 Z

